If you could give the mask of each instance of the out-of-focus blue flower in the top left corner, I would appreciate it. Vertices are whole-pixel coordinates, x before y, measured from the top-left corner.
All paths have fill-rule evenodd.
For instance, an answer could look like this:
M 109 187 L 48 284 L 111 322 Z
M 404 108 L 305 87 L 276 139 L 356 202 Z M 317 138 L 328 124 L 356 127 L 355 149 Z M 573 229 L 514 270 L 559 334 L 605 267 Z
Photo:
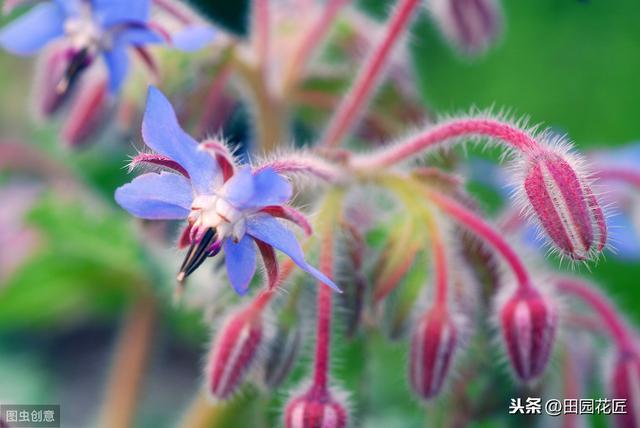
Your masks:
M 97 56 L 109 70 L 109 89 L 117 92 L 127 75 L 127 48 L 159 43 L 148 27 L 149 0 L 55 0 L 40 3 L 0 31 L 0 45 L 17 55 L 32 55 L 48 43 L 64 39 L 69 65 L 59 90 Z

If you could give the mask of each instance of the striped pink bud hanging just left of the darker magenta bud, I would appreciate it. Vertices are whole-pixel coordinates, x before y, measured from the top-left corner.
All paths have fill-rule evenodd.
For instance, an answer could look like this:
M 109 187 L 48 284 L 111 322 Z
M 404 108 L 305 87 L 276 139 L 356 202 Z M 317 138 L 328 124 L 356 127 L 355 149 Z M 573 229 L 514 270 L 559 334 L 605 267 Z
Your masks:
M 421 398 L 438 395 L 449 373 L 459 332 L 449 313 L 439 307 L 418 322 L 411 338 L 409 383 Z

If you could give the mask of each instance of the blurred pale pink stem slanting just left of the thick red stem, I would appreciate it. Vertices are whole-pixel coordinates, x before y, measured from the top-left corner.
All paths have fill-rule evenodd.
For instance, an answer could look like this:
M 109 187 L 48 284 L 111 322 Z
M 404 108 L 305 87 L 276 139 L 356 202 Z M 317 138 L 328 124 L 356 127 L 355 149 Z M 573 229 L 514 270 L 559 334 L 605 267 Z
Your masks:
M 288 93 L 302 77 L 301 73 L 304 71 L 305 65 L 329 33 L 336 15 L 346 3 L 347 0 L 329 0 L 327 2 L 322 14 L 311 26 L 311 29 L 304 36 L 293 54 L 293 59 L 284 80 L 285 93 Z

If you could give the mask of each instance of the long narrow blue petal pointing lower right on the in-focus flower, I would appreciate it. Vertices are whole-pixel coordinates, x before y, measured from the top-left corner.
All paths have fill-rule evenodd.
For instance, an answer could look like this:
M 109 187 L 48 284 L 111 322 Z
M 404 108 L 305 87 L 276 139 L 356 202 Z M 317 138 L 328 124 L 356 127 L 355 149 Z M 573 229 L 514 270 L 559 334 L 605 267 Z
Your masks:
M 315 276 L 319 281 L 334 290 L 340 291 L 332 280 L 305 261 L 302 248 L 300 248 L 300 244 L 298 244 L 293 232 L 280 224 L 275 218 L 266 214 L 250 217 L 247 219 L 247 233 L 282 251 L 291 257 L 291 260 L 300 266 L 302 270 Z

